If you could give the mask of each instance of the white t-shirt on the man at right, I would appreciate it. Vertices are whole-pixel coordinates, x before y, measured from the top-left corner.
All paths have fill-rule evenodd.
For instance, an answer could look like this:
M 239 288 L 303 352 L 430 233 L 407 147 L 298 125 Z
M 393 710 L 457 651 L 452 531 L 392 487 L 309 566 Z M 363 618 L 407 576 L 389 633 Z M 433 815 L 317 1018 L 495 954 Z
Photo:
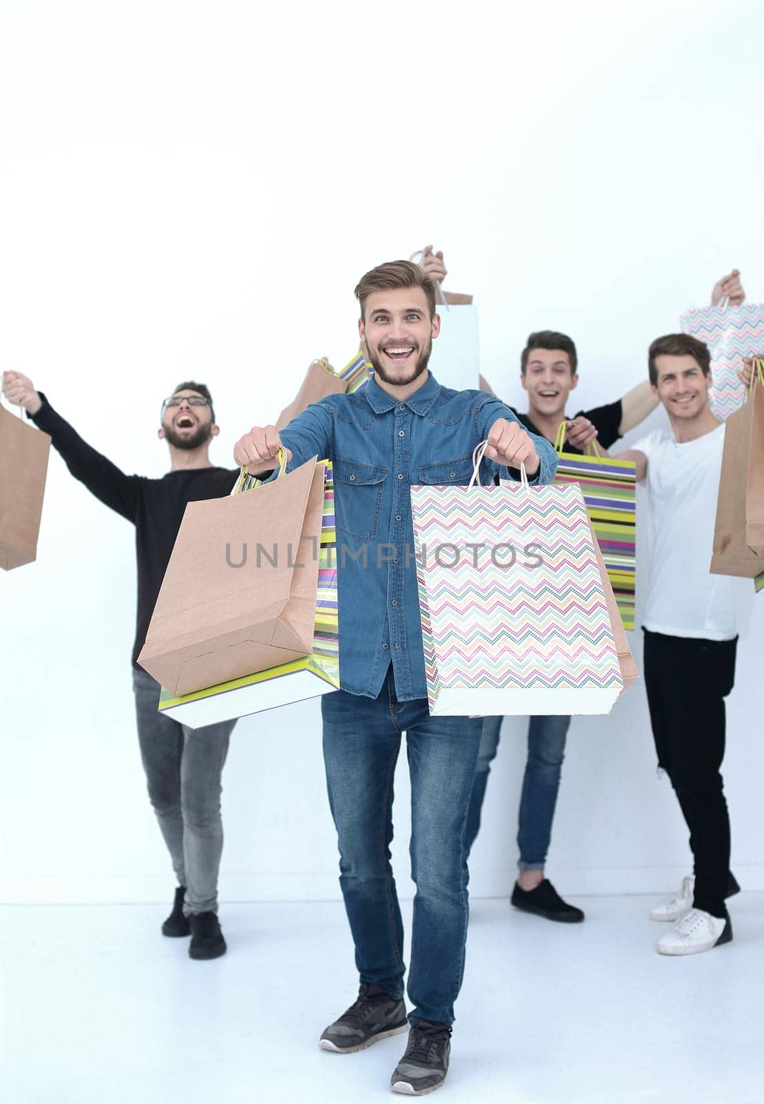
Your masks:
M 651 555 L 643 624 L 652 633 L 738 635 L 733 581 L 709 573 L 723 446 L 723 425 L 683 444 L 655 429 L 632 446 L 647 456 Z

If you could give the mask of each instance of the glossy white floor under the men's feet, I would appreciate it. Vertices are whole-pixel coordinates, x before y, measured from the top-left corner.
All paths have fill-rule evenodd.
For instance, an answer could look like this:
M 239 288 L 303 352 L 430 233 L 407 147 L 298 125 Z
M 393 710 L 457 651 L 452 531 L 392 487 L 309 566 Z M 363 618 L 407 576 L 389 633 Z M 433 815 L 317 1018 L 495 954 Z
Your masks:
M 580 900 L 565 926 L 473 902 L 443 1095 L 464 1104 L 764 1102 L 764 894 L 735 938 L 655 954 L 652 899 Z M 147 905 L 0 909 L 8 1104 L 393 1100 L 405 1037 L 320 1051 L 357 980 L 339 904 L 226 904 L 229 954 L 191 962 Z

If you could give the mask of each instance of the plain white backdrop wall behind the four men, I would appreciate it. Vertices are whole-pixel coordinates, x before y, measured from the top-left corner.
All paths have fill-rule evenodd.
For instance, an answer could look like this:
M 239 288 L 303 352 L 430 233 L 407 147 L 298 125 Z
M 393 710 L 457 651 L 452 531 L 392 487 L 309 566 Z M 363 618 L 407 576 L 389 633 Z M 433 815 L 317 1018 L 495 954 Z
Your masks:
M 213 459 L 230 465 L 308 361 L 353 353 L 361 273 L 426 242 L 447 286 L 475 294 L 484 372 L 512 402 L 530 330 L 574 337 L 576 406 L 595 405 L 644 378 L 649 340 L 733 265 L 761 299 L 761 4 L 497 10 L 3 0 L 0 365 L 125 470 L 159 476 L 159 404 L 179 380 L 212 388 Z M 169 899 L 132 723 L 134 601 L 130 527 L 53 456 L 39 561 L 0 578 L 2 900 Z M 764 596 L 725 767 L 752 889 L 763 643 Z M 478 894 L 511 884 L 523 732 L 507 722 Z M 224 899 L 338 895 L 316 703 L 241 722 L 224 785 Z M 651 892 L 687 866 L 639 686 L 573 722 L 549 872 L 571 893 Z

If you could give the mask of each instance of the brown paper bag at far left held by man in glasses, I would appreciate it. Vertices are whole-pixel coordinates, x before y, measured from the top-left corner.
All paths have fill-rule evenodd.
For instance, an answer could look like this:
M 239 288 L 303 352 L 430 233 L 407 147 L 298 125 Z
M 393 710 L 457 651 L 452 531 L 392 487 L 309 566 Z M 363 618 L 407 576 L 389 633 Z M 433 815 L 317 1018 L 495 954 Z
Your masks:
M 0 567 L 32 563 L 51 438 L 0 406 Z

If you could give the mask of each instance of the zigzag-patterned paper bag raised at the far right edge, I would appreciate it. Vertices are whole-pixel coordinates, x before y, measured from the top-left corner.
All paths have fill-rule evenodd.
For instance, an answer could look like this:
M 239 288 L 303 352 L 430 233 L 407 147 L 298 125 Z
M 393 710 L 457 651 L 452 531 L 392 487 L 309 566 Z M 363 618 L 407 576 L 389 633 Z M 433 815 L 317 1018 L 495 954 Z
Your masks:
M 704 341 L 711 351 L 709 401 L 717 417 L 726 421 L 745 399 L 745 388 L 738 379 L 743 357 L 756 357 L 764 350 L 764 304 L 688 310 L 680 325 L 682 333 Z

